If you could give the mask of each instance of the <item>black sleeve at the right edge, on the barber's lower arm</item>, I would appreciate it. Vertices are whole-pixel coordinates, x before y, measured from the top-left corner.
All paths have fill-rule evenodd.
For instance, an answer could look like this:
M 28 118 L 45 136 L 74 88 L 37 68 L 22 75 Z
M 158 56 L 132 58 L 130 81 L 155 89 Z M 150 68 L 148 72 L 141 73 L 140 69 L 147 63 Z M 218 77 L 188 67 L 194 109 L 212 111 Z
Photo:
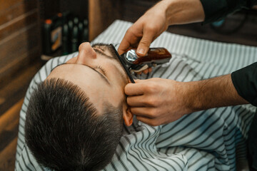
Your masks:
M 238 94 L 257 106 L 257 62 L 231 73 L 231 78 Z

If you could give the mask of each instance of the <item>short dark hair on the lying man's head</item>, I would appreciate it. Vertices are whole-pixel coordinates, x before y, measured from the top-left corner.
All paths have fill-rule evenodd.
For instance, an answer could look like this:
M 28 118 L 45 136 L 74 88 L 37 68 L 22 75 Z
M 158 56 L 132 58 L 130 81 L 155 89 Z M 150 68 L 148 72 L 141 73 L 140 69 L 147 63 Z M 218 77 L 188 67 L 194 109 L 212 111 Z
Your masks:
M 108 104 L 99 113 L 79 86 L 51 78 L 31 95 L 26 145 L 40 165 L 52 170 L 101 170 L 119 144 L 121 113 L 121 105 Z

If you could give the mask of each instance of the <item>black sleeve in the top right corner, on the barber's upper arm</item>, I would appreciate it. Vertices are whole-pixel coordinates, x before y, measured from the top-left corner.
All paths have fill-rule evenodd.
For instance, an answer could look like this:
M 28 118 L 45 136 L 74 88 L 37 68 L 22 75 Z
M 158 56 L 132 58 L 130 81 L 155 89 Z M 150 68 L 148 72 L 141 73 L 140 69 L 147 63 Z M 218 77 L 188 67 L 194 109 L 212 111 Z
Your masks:
M 228 14 L 243 8 L 250 9 L 257 0 L 200 0 L 203 5 L 205 19 L 203 24 L 221 20 Z

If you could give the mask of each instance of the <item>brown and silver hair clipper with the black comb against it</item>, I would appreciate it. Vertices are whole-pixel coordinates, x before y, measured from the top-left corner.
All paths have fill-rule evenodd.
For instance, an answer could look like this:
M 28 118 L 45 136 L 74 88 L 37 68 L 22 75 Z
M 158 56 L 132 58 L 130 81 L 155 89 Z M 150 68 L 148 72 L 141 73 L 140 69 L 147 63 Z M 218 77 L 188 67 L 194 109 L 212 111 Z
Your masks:
M 140 72 L 152 66 L 167 63 L 171 59 L 171 53 L 169 53 L 166 48 L 149 48 L 146 56 L 137 56 L 136 48 L 131 48 L 129 51 L 119 56 L 116 48 L 112 44 L 111 46 L 119 57 L 121 66 L 123 66 L 127 76 L 129 76 L 131 83 L 135 83 L 131 73 Z

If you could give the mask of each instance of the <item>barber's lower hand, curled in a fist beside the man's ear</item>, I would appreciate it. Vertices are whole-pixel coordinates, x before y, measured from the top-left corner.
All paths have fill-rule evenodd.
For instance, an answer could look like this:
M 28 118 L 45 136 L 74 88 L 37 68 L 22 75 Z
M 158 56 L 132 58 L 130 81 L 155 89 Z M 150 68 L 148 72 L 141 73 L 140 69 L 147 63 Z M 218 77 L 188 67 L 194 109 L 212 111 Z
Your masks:
M 186 83 L 151 78 L 135 80 L 125 86 L 131 112 L 148 125 L 163 125 L 191 113 L 185 93 Z

